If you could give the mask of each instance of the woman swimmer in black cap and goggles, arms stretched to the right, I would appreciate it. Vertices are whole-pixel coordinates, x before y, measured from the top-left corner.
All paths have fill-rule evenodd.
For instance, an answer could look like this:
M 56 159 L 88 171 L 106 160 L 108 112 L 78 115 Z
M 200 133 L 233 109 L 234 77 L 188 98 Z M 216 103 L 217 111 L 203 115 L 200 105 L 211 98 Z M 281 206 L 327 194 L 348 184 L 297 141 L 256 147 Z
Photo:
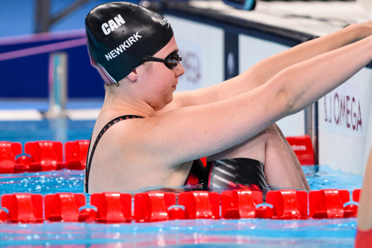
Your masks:
M 275 122 L 309 106 L 372 59 L 372 22 L 352 24 L 235 78 L 173 93 L 185 70 L 167 19 L 114 2 L 93 8 L 85 24 L 91 63 L 106 84 L 87 157 L 89 193 L 180 187 L 190 171 L 203 173 L 200 157 L 207 157 L 203 178 L 211 187 L 310 190 Z

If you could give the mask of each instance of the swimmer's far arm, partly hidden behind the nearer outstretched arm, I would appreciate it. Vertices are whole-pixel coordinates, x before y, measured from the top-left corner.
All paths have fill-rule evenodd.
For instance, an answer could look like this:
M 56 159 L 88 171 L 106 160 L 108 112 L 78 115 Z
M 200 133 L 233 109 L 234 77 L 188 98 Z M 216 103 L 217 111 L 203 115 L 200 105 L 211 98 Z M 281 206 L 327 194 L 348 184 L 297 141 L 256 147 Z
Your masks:
M 339 31 L 301 43 L 264 59 L 248 68 L 241 75 L 222 83 L 181 93 L 175 93 L 174 104 L 178 107 L 200 105 L 220 101 L 252 90 L 270 80 L 281 70 L 319 54 L 346 46 L 372 35 L 372 21 L 356 23 Z M 168 106 L 163 112 L 174 108 Z

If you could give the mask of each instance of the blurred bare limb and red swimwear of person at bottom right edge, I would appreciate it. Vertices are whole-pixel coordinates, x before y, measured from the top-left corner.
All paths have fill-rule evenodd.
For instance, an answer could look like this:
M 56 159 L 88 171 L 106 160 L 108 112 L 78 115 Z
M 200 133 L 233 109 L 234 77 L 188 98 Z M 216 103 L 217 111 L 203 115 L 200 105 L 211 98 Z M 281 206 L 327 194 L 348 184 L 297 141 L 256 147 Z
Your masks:
M 372 147 L 364 173 L 363 187 L 360 192 L 358 224 L 355 240 L 356 248 L 371 247 L 372 244 Z

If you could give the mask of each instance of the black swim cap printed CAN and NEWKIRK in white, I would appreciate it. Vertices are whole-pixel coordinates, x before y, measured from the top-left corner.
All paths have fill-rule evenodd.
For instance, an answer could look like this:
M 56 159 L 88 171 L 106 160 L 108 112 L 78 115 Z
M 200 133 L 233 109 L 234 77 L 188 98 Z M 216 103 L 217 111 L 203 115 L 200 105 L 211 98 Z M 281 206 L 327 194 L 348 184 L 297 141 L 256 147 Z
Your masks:
M 171 40 L 173 30 L 163 16 L 130 2 L 96 6 L 85 17 L 91 64 L 106 84 L 114 84 Z

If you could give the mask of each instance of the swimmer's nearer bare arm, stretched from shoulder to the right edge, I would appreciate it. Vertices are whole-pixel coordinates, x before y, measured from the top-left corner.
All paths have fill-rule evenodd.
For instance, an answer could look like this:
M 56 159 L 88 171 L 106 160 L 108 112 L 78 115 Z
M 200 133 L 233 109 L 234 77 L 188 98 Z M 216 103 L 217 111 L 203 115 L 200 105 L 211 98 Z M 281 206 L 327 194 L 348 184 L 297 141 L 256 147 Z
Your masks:
M 171 49 L 170 44 L 164 50 Z M 160 50 L 166 54 L 166 51 Z M 372 37 L 296 63 L 247 93 L 140 120 L 143 154 L 177 164 L 215 154 L 253 137 L 351 78 L 372 59 Z M 177 68 L 175 68 L 177 69 Z M 132 142 L 136 142 L 132 140 Z M 154 158 L 155 158 L 154 157 Z M 166 161 L 164 161 L 166 163 Z

